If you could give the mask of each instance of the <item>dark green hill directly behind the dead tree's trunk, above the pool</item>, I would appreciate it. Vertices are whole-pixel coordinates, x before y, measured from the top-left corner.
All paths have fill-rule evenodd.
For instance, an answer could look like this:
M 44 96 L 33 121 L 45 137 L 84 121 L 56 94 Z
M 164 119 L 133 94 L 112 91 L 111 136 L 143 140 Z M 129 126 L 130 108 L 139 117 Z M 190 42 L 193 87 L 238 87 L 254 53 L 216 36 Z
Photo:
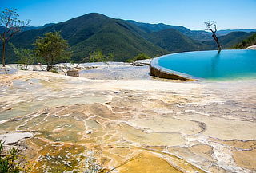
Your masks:
M 229 49 L 232 45 L 236 45 L 239 42 L 243 41 L 247 37 L 250 37 L 253 33 L 246 32 L 232 32 L 227 35 L 218 37 L 222 49 Z M 203 44 L 209 45 L 211 49 L 217 49 L 217 45 L 214 40 L 211 41 L 202 41 Z

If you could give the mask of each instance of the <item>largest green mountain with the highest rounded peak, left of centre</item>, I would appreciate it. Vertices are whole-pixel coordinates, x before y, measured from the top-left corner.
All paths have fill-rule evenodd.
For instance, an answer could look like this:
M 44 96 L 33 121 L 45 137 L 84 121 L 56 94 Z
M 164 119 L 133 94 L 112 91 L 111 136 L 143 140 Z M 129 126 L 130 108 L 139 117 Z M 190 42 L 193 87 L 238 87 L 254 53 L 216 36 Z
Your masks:
M 146 33 L 138 26 L 102 14 L 86 14 L 41 29 L 28 30 L 18 34 L 11 42 L 17 47 L 32 48 L 31 44 L 38 36 L 54 31 L 62 31 L 62 37 L 68 40 L 75 61 L 88 57 L 91 51 L 97 49 L 104 54 L 114 53 L 115 61 L 126 61 L 138 53 L 146 53 L 150 57 L 169 53 L 147 41 L 144 38 Z M 12 52 L 10 48 L 7 49 L 6 62 L 17 61 Z

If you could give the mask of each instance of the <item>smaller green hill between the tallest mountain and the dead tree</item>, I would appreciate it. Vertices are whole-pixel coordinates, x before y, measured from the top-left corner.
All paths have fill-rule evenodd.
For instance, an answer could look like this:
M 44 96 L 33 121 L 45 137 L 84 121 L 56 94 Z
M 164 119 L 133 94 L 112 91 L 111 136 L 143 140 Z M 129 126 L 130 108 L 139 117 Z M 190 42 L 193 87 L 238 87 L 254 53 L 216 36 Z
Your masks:
M 150 33 L 148 39 L 155 45 L 169 50 L 171 53 L 208 48 L 207 45 L 203 45 L 199 41 L 194 41 L 176 29 L 164 29 L 158 32 Z

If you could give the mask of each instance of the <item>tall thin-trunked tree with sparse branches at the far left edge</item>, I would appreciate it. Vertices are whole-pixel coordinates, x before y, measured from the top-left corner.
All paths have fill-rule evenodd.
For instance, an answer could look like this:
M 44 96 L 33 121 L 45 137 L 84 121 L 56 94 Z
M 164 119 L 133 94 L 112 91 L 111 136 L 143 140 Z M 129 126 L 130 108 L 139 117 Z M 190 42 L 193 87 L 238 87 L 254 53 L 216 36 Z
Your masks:
M 6 44 L 16 33 L 20 32 L 23 27 L 28 26 L 30 20 L 22 21 L 18 19 L 16 9 L 5 9 L 0 14 L 0 26 L 3 31 L 0 33 L 2 41 L 2 66 L 6 65 Z

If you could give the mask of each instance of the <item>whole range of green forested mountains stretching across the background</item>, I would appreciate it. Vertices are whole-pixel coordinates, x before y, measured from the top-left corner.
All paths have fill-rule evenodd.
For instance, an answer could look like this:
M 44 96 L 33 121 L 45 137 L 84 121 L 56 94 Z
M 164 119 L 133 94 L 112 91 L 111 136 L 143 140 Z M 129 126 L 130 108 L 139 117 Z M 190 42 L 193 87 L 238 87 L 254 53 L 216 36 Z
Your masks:
M 0 27 L 0 32 L 2 32 Z M 41 27 L 26 27 L 10 43 L 18 49 L 34 49 L 34 41 L 45 33 L 61 32 L 72 52 L 71 61 L 90 61 L 90 53 L 100 51 L 113 61 L 129 61 L 140 53 L 149 57 L 194 50 L 216 49 L 211 33 L 193 31 L 183 26 L 149 24 L 109 18 L 103 14 L 85 14 L 66 22 Z M 230 30 L 229 30 L 230 32 Z M 223 49 L 228 49 L 250 37 L 252 33 L 231 32 L 219 37 Z M 17 63 L 10 45 L 6 49 L 6 63 Z

